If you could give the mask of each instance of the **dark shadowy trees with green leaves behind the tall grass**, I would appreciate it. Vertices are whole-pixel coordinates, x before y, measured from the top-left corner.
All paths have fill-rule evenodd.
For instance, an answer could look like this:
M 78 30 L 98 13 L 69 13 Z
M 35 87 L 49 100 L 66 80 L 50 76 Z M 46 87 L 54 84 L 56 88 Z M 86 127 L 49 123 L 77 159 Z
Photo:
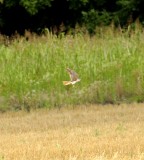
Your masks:
M 144 23 L 144 0 L 0 0 L 0 33 L 59 32 L 85 26 L 93 33 L 98 25 L 126 26 Z

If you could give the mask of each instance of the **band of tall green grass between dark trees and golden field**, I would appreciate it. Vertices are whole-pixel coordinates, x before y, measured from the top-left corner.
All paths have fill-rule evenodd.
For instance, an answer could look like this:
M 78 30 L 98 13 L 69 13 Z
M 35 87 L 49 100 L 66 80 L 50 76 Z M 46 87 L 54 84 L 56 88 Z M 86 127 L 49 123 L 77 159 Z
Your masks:
M 47 33 L 0 46 L 0 106 L 6 109 L 144 101 L 144 32 L 113 27 L 96 35 Z M 66 68 L 81 81 L 65 87 Z

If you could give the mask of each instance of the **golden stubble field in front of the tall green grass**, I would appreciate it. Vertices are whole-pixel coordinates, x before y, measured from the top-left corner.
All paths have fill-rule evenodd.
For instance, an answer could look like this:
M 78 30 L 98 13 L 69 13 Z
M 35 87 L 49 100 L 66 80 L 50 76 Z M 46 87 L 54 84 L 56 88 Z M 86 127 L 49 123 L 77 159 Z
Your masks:
M 143 160 L 144 104 L 0 115 L 0 160 Z

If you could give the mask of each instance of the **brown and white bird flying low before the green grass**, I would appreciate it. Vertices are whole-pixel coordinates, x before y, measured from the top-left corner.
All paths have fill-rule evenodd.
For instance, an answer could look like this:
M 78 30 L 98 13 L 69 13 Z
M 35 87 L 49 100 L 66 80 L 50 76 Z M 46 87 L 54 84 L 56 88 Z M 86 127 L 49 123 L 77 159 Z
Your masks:
M 70 81 L 63 81 L 63 85 L 65 85 L 65 86 L 74 85 L 75 83 L 80 81 L 79 76 L 75 71 L 73 71 L 70 68 L 67 68 L 66 70 L 70 76 Z

